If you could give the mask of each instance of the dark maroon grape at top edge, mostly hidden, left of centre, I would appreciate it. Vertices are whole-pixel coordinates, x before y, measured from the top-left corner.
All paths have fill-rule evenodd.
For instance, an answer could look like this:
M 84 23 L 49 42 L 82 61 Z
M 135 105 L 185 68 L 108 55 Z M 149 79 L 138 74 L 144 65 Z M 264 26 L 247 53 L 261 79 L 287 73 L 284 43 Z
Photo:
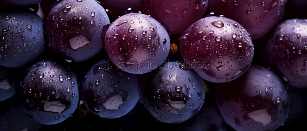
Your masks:
M 99 0 L 101 5 L 105 9 L 109 9 L 111 20 L 115 20 L 117 17 L 124 15 L 128 8 L 136 11 L 140 10 L 140 0 Z M 129 10 L 129 9 L 128 9 Z

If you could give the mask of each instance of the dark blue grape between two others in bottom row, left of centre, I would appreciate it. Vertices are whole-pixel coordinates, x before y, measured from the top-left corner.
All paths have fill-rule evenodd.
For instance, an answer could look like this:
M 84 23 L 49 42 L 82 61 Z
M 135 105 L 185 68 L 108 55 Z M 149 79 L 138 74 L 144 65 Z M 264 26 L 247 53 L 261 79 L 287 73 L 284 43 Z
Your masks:
M 84 103 L 102 118 L 119 118 L 138 103 L 138 77 L 126 73 L 108 59 L 94 64 L 81 82 Z

